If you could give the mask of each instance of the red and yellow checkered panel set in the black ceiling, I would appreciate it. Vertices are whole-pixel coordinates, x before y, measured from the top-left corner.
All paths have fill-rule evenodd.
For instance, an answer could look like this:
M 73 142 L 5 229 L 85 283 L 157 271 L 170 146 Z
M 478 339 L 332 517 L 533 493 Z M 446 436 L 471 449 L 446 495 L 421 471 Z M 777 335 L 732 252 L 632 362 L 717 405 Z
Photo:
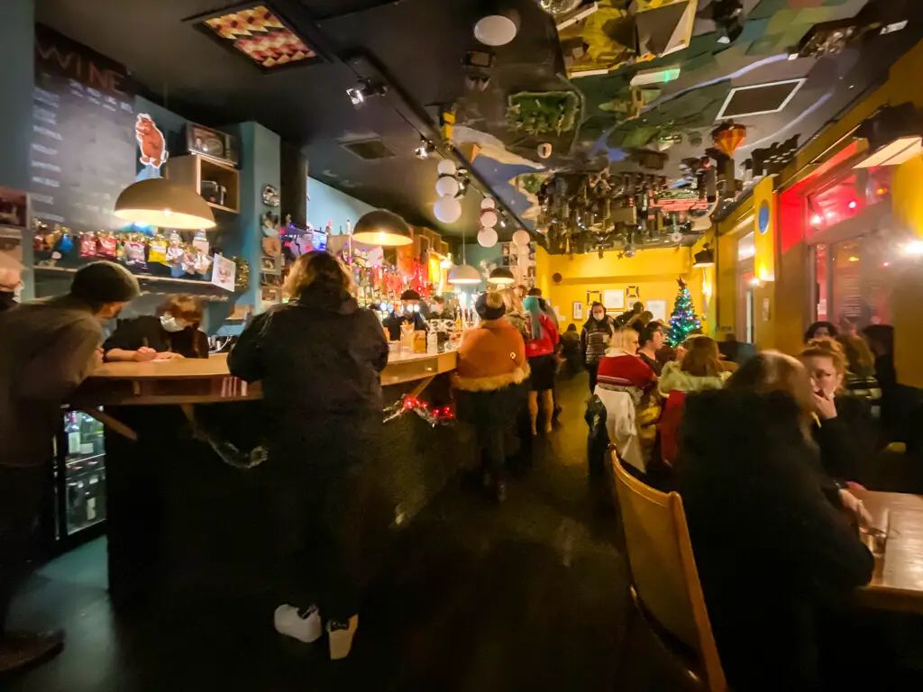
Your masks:
M 191 21 L 198 30 L 266 72 L 308 65 L 319 59 L 317 51 L 283 23 L 266 2 L 224 8 Z

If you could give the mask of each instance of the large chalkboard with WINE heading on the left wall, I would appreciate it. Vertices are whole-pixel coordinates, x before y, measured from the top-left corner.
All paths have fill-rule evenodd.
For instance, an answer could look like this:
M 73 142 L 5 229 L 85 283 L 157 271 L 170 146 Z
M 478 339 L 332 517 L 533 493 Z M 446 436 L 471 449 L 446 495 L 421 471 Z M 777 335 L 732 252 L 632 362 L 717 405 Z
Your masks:
M 75 232 L 116 230 L 135 180 L 135 87 L 124 66 L 42 26 L 35 36 L 33 216 Z

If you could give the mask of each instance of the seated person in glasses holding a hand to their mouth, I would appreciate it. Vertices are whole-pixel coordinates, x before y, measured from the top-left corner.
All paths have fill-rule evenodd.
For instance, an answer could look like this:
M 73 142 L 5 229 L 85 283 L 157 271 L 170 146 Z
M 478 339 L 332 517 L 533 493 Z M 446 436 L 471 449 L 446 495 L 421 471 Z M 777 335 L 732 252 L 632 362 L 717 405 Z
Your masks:
M 811 435 L 821 450 L 821 465 L 834 479 L 861 483 L 862 469 L 875 452 L 869 404 L 843 390 L 845 356 L 835 341 L 809 341 L 801 362 L 810 376 Z

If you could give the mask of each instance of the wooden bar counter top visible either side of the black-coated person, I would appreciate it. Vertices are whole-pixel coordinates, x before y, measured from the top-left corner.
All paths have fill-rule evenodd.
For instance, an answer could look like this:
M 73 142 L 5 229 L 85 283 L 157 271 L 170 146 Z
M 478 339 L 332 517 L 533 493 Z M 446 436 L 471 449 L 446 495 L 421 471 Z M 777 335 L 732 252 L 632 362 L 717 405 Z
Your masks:
M 455 369 L 457 353 L 390 353 L 381 374 L 384 387 L 423 380 Z M 71 406 L 219 403 L 255 400 L 259 385 L 247 386 L 228 372 L 227 354 L 208 359 L 106 363 L 78 388 Z

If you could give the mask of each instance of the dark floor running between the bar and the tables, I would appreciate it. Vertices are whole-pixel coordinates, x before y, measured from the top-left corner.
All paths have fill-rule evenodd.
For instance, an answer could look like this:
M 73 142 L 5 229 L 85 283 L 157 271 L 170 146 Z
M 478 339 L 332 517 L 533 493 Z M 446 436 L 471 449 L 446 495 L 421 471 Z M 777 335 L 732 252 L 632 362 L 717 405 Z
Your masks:
M 626 577 L 612 519 L 597 518 L 587 494 L 585 392 L 585 376 L 561 385 L 563 425 L 540 449 L 534 470 L 511 483 L 505 505 L 491 506 L 453 486 L 414 520 L 369 594 L 349 660 L 327 660 L 323 640 L 305 646 L 278 636 L 271 627 L 274 603 L 266 597 L 218 608 L 193 604 L 171 613 L 116 615 L 106 593 L 105 543 L 99 541 L 32 579 L 18 600 L 14 624 L 65 626 L 66 650 L 0 680 L 0 687 L 678 689 L 654 682 L 651 671 L 626 679 L 619 663 Z M 665 674 L 659 665 L 653 668 Z

